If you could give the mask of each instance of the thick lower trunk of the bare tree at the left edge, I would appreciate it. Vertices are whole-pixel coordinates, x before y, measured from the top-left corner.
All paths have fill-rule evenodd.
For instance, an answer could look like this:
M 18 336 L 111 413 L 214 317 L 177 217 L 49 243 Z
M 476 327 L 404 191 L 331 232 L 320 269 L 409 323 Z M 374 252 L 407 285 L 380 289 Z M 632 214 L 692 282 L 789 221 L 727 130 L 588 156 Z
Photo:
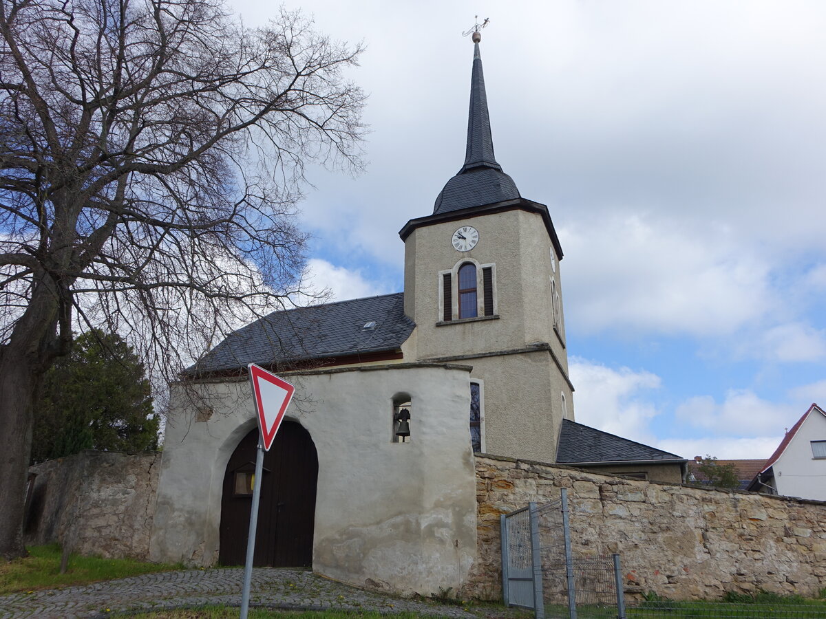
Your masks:
M 36 398 L 36 369 L 7 347 L 0 357 L 0 556 L 26 555 L 23 517 Z

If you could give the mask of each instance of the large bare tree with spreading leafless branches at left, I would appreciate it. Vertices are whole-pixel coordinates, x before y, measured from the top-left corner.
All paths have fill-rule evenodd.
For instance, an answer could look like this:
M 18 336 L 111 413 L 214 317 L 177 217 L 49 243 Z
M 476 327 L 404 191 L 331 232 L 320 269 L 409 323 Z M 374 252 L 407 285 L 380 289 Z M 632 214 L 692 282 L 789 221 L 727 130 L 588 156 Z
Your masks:
M 73 327 L 174 376 L 301 288 L 308 162 L 360 166 L 358 49 L 221 0 L 0 0 L 0 555 Z

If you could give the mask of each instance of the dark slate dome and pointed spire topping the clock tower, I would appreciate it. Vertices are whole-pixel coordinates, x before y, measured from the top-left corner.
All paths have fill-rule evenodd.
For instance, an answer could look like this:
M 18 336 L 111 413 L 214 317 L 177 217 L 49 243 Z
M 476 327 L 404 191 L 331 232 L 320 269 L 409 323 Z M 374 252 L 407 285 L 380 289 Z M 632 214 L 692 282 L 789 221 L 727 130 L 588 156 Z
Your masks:
M 433 208 L 434 215 L 485 206 L 495 202 L 519 198 L 515 182 L 496 162 L 493 154 L 491 120 L 487 113 L 485 76 L 478 42 L 473 43 L 473 71 L 470 81 L 470 109 L 468 111 L 468 146 L 465 163 L 439 193 Z

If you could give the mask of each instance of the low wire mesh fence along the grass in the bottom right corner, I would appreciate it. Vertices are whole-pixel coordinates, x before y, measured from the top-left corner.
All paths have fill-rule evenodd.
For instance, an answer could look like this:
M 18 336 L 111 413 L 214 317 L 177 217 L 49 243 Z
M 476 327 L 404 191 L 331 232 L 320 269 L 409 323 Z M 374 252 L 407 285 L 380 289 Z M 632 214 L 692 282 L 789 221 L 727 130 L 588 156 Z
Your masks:
M 644 619 L 824 619 L 826 602 L 760 604 L 726 602 L 635 602 L 626 608 L 627 617 Z

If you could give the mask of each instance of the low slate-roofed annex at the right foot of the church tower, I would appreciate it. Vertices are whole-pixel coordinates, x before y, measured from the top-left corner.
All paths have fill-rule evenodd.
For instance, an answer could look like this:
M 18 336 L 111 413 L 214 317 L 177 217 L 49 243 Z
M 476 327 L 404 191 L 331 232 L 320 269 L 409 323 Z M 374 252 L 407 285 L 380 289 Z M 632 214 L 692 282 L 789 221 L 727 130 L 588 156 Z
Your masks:
M 685 458 L 629 441 L 570 419 L 563 419 L 557 447 L 558 464 L 627 475 L 638 480 L 681 484 L 686 480 Z

